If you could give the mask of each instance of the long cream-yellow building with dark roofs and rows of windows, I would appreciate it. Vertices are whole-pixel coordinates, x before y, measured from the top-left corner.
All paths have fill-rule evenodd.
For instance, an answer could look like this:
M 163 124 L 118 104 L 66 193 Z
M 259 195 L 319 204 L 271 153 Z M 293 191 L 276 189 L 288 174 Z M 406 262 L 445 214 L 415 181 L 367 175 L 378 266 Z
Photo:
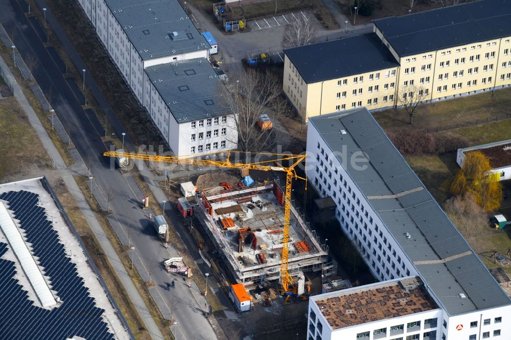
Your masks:
M 285 50 L 283 90 L 306 119 L 511 85 L 511 3 L 480 0 L 374 20 L 373 33 Z

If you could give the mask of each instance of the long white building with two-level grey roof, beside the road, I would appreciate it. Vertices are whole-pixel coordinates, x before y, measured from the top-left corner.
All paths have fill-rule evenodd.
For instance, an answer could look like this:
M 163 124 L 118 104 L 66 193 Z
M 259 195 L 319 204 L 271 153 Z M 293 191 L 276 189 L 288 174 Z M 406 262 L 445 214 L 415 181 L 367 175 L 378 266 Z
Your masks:
M 237 147 L 235 117 L 208 62 L 211 46 L 177 0 L 78 3 L 174 154 Z

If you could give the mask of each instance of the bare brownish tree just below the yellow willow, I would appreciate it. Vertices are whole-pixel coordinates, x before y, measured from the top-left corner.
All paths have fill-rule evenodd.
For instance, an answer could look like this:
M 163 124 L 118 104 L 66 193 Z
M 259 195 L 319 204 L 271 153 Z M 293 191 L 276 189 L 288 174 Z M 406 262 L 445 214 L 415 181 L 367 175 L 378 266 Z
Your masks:
M 471 240 L 487 223 L 487 214 L 472 196 L 456 196 L 446 201 L 445 210 L 456 228 Z

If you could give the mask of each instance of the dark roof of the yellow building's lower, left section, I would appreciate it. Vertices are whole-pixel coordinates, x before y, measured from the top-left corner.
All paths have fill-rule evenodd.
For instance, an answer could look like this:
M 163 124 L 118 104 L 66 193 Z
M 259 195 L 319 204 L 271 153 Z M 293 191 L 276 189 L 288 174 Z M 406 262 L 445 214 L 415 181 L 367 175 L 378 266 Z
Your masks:
M 284 53 L 307 84 L 399 66 L 375 33 L 289 48 Z

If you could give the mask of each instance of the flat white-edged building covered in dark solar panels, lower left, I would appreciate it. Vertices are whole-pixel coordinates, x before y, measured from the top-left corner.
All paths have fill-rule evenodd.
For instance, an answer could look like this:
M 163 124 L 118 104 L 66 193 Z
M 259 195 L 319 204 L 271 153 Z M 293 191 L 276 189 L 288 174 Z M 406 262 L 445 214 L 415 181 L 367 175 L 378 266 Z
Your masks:
M 0 184 L 0 338 L 129 339 L 44 177 Z

